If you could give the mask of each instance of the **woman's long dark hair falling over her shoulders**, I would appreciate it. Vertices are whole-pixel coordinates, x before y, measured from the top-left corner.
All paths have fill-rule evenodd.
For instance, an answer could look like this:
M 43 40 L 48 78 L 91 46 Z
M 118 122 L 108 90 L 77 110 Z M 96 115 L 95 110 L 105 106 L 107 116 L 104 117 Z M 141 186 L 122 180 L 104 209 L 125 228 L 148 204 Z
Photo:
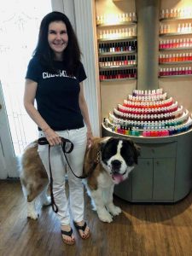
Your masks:
M 74 75 L 76 67 L 79 65 L 81 52 L 71 22 L 66 15 L 60 12 L 55 11 L 44 16 L 38 33 L 38 45 L 34 50 L 33 55 L 40 58 L 42 65 L 46 67 L 49 72 L 55 72 L 54 53 L 48 43 L 49 23 L 53 21 L 62 21 L 67 27 L 68 44 L 63 52 L 63 60 L 67 60 L 65 61 L 65 65 L 67 65 L 67 73 Z

